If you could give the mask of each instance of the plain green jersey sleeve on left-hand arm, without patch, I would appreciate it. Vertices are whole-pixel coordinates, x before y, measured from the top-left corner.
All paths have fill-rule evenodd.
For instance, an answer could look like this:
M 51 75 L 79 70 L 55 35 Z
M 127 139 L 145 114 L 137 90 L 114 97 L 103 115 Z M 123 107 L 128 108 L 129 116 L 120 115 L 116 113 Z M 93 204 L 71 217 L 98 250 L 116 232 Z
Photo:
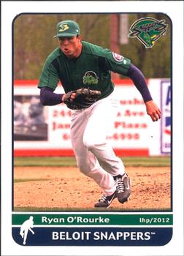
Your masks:
M 45 65 L 42 69 L 42 74 L 39 79 L 38 88 L 50 87 L 53 90 L 58 86 L 58 72 L 57 69 L 49 61 L 45 61 Z

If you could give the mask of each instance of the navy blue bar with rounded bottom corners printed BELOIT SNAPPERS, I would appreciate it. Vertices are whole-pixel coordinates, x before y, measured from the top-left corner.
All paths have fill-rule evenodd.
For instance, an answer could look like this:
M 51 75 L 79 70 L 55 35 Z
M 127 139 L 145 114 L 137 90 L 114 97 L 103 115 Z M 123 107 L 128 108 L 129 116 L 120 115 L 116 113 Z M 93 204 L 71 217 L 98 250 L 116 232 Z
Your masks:
M 34 227 L 26 244 L 20 227 L 12 237 L 23 246 L 163 246 L 172 238 L 172 227 Z

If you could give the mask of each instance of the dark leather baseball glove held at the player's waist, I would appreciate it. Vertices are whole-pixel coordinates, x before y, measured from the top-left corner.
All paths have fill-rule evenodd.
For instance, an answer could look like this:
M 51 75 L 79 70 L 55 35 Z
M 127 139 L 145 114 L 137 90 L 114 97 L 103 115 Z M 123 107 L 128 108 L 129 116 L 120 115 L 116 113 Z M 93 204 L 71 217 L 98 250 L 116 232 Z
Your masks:
M 71 101 L 71 95 L 75 93 L 75 98 Z M 91 89 L 81 88 L 76 91 L 69 91 L 65 98 L 64 103 L 68 108 L 77 110 L 82 108 L 88 108 L 99 99 L 101 91 L 95 91 Z

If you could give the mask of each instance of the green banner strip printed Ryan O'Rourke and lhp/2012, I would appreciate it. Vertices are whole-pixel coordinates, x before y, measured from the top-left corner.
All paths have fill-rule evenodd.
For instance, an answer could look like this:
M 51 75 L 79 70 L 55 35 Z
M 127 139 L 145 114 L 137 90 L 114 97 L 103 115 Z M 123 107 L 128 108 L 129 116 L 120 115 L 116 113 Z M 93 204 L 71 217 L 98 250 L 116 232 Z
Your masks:
M 12 214 L 12 225 L 172 225 L 172 214 Z

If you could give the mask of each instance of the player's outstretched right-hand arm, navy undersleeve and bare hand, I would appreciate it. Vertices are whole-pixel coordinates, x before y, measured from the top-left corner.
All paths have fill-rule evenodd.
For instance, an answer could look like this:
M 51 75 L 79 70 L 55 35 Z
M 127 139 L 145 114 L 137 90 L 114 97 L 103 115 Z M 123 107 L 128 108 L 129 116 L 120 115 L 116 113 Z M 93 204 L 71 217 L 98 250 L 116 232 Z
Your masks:
M 134 85 L 142 95 L 142 99 L 145 102 L 147 115 L 149 115 L 153 121 L 158 121 L 161 118 L 161 110 L 158 108 L 150 95 L 150 91 L 147 87 L 145 76 L 142 72 L 133 64 L 130 65 L 127 76 L 133 80 Z

